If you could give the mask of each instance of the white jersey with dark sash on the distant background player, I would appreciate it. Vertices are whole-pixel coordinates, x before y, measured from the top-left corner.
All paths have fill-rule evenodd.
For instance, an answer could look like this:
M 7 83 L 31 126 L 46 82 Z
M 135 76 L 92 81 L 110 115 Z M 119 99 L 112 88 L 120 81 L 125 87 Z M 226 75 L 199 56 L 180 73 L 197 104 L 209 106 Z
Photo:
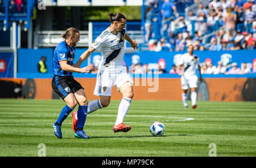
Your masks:
M 188 53 L 185 53 L 180 57 L 179 64 L 182 64 L 184 67 L 183 75 L 196 75 L 196 68 L 199 65 L 199 57 L 195 54 L 188 55 Z

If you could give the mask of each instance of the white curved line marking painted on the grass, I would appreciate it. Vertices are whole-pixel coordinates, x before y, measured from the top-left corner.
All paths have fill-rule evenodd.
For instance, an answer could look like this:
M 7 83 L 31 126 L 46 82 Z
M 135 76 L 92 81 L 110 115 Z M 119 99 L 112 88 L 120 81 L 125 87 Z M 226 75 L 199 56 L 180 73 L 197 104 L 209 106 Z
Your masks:
M 58 115 L 58 114 L 57 114 Z M 32 115 L 33 116 L 33 115 Z M 44 115 L 44 117 L 52 117 L 53 115 Z M 56 116 L 56 115 L 55 115 Z M 117 115 L 114 114 L 93 114 L 89 115 L 88 117 L 116 117 Z M 31 117 L 31 116 L 30 116 Z M 194 118 L 187 118 L 187 117 L 169 117 L 169 116 L 159 116 L 159 115 L 127 115 L 126 117 L 145 117 L 145 118 L 175 118 L 177 120 L 162 120 L 159 119 L 159 122 L 180 122 L 186 120 L 193 120 Z M 147 121 L 138 121 L 138 122 L 126 122 L 126 123 L 152 123 L 156 120 L 147 120 Z M 0 125 L 48 125 L 52 123 L 0 123 Z M 63 123 L 63 124 L 71 124 L 71 123 Z M 114 124 L 114 122 L 103 122 L 103 123 L 86 123 L 86 125 L 95 125 L 95 124 Z

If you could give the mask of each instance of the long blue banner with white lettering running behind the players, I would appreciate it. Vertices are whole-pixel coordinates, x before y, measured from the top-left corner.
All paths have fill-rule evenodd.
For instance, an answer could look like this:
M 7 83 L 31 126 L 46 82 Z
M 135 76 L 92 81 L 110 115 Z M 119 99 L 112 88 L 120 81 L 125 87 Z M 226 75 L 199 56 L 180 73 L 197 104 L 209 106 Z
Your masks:
M 18 49 L 18 74 L 17 77 L 52 77 L 52 57 L 54 49 Z M 77 62 L 80 55 L 84 53 L 86 49 L 77 48 L 74 63 Z M 177 66 L 177 62 L 182 54 L 185 52 L 166 52 L 166 51 L 140 51 L 136 53 L 126 53 L 124 57 L 125 64 L 128 68 L 132 64 L 142 63 L 148 65 L 148 69 L 156 69 L 160 64 L 165 68 L 167 74 L 172 68 L 172 65 Z M 256 54 L 254 50 L 236 50 L 236 51 L 194 51 L 194 54 L 198 55 L 200 58 L 200 63 L 212 62 L 214 66 L 217 66 L 218 61 L 221 61 L 226 68 L 234 62 L 237 63 L 237 67 L 241 68 L 243 62 L 247 63 L 251 72 L 256 68 Z M 48 73 L 39 74 L 36 68 L 37 63 L 40 58 L 45 56 L 47 58 L 46 64 Z M 101 60 L 101 54 L 95 51 L 90 55 L 90 62 L 94 66 L 98 66 Z M 88 61 L 84 61 L 81 67 L 87 66 Z M 166 74 L 166 75 L 167 75 Z M 254 73 L 255 74 L 255 73 Z M 164 74 L 161 74 L 162 76 Z M 159 77 L 161 77 L 161 75 Z M 172 74 L 173 75 L 173 74 Z M 210 74 L 212 75 L 212 74 Z M 92 74 L 77 74 L 76 77 L 94 77 L 96 75 Z M 214 75 L 213 75 L 214 76 Z M 238 75 L 239 76 L 239 75 Z M 237 77 L 238 77 L 237 76 Z M 255 76 L 255 75 L 254 75 Z M 168 77 L 168 76 L 166 76 Z M 172 76 L 170 76 L 172 77 Z M 178 77 L 178 76 L 177 76 Z M 214 76 L 216 77 L 216 75 Z M 226 76 L 228 77 L 228 76 Z M 242 77 L 242 76 L 241 76 Z

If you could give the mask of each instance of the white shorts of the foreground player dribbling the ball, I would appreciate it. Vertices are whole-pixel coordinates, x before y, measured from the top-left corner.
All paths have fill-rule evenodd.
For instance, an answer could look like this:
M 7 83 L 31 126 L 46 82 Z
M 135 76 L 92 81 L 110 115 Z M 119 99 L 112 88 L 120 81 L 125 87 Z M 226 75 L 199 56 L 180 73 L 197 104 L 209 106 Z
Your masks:
M 120 87 L 130 81 L 133 85 L 133 78 L 126 72 L 126 69 L 123 68 L 120 72 L 109 72 L 107 70 L 100 71 L 97 74 L 96 86 L 94 89 L 94 94 L 96 96 L 111 96 L 112 87 L 115 86 L 119 92 Z

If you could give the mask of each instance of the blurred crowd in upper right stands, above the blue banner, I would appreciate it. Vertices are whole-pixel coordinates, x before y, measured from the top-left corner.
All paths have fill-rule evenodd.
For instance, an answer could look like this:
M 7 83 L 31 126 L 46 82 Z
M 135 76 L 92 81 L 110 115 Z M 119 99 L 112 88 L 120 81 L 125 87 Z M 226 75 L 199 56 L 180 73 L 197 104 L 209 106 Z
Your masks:
M 196 2 L 198 8 L 186 16 L 185 7 Z M 255 0 L 213 0 L 207 6 L 196 0 L 151 0 L 144 16 L 151 51 L 184 51 L 191 44 L 195 50 L 256 49 Z

